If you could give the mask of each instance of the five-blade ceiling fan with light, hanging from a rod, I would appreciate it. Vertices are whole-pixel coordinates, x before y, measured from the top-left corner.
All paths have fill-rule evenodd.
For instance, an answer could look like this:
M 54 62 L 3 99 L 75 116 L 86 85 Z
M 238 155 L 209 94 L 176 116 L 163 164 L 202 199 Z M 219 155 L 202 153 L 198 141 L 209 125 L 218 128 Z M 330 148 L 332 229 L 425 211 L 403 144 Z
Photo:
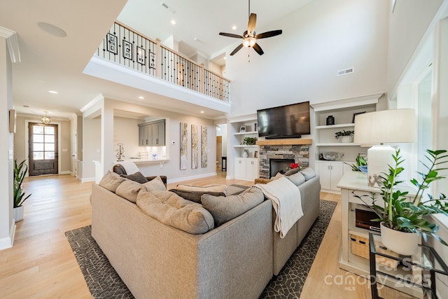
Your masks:
M 235 50 L 233 50 L 232 53 L 230 53 L 230 55 L 234 55 L 235 53 L 237 53 L 241 48 L 243 48 L 243 46 L 246 48 L 253 48 L 253 50 L 255 50 L 256 53 L 258 53 L 259 55 L 263 55 L 264 52 L 262 48 L 258 45 L 256 40 L 266 39 L 267 37 L 280 35 L 282 32 L 280 29 L 255 34 L 256 22 L 257 22 L 257 15 L 255 13 L 251 13 L 251 1 L 249 0 L 249 22 L 247 25 L 247 30 L 243 32 L 243 35 L 225 33 L 225 32 L 219 33 L 219 35 L 222 36 L 235 37 L 236 39 L 243 39 L 243 42 L 239 44 L 239 46 L 237 46 L 237 48 L 235 48 Z

